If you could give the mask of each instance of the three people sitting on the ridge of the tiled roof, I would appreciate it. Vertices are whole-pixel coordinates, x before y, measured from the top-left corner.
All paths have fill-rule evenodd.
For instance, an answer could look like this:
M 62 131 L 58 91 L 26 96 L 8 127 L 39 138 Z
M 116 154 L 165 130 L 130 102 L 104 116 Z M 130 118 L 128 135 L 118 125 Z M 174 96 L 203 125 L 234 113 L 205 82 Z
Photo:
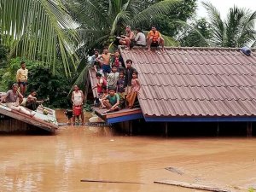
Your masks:
M 165 45 L 164 38 L 162 38 L 155 26 L 151 27 L 151 31 L 148 32 L 147 38 L 141 29 L 137 28 L 136 32 L 133 32 L 131 26 L 126 26 L 125 35 L 117 38 L 119 38 L 119 44 L 125 45 L 126 49 L 131 49 L 133 46 L 147 46 L 148 50 L 150 50 L 151 47 L 161 46 L 161 48 L 164 49 Z

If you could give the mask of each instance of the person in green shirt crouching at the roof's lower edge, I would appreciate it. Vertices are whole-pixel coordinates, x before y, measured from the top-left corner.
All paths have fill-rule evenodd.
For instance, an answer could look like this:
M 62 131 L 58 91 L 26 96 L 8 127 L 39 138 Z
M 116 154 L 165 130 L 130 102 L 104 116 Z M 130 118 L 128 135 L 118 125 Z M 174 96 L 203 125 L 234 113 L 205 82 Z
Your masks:
M 110 87 L 108 89 L 108 95 L 105 96 L 104 98 L 102 98 L 102 101 L 104 103 L 104 106 L 106 106 L 106 108 L 108 108 L 107 111 L 104 111 L 103 113 L 109 113 L 109 112 L 113 112 L 113 111 L 118 111 L 120 109 L 119 107 L 119 94 L 117 94 L 115 92 L 115 90 Z

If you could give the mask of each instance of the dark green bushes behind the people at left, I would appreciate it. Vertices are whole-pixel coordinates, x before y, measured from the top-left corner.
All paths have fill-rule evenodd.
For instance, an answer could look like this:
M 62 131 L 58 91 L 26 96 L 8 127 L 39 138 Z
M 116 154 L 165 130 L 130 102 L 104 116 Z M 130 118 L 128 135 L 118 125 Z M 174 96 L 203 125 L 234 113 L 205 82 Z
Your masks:
M 42 61 L 31 61 L 20 57 L 11 59 L 6 73 L 3 74 L 1 82 L 3 88 L 1 91 L 9 90 L 11 85 L 15 83 L 16 72 L 20 68 L 20 61 L 25 61 L 28 69 L 28 89 L 26 95 L 29 94 L 30 90 L 36 90 L 38 92 L 38 99 L 49 98 L 49 106 L 67 108 L 70 104 L 70 98 L 67 98 L 71 87 L 70 79 L 67 79 L 61 67 L 56 68 L 56 72 L 53 75 L 49 67 L 50 65 L 45 65 Z

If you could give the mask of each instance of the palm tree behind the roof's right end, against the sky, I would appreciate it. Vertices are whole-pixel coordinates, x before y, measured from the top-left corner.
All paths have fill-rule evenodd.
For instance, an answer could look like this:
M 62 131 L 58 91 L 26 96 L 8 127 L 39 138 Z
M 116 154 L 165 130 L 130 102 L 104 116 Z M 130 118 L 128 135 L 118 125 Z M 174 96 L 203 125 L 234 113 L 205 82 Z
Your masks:
M 204 3 L 212 25 L 212 46 L 243 47 L 251 46 L 256 40 L 256 11 L 230 8 L 226 20 L 222 20 L 212 3 Z

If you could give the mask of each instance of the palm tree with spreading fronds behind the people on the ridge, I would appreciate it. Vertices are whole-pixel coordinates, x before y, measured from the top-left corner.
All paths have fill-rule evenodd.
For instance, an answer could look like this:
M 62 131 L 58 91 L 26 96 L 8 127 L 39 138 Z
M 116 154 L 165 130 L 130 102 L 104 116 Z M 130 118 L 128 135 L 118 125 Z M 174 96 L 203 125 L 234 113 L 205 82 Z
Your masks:
M 141 26 L 150 23 L 155 16 L 169 13 L 178 0 L 145 3 L 142 0 L 76 0 L 67 7 L 79 26 L 79 33 L 87 49 L 99 44 L 111 44 L 113 37 L 124 31 L 125 26 Z M 168 38 L 167 45 L 177 44 Z

